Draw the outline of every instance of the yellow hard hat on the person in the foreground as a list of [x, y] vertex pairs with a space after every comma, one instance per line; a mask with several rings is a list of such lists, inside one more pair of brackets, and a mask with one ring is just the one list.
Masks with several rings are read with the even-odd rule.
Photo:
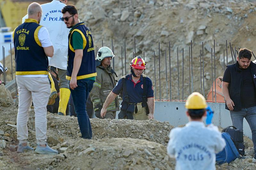
[[206, 107], [207, 104], [204, 96], [198, 92], [193, 92], [189, 95], [185, 104], [185, 108], [187, 109], [205, 109]]

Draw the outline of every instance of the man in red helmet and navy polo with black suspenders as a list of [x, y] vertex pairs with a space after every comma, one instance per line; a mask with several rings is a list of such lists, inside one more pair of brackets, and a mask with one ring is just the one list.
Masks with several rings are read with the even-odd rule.
[[107, 107], [123, 91], [118, 119], [147, 120], [154, 118], [154, 90], [152, 81], [142, 72], [146, 68], [145, 61], [137, 56], [132, 59], [131, 74], [121, 77], [114, 89], [109, 93], [101, 109], [101, 117], [106, 116]]

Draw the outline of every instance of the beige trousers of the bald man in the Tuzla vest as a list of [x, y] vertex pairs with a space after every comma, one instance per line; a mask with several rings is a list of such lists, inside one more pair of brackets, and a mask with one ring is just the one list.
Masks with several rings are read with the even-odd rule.
[[17, 115], [17, 139], [26, 143], [28, 139], [28, 117], [30, 106], [34, 104], [36, 140], [38, 145], [46, 144], [46, 106], [50, 96], [48, 77], [16, 77], [19, 89], [19, 109]]

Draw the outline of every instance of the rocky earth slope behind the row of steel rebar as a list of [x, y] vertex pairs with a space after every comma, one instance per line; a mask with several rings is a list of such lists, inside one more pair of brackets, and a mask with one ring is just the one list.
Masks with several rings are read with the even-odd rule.
[[[158, 75], [158, 42], [160, 42], [160, 73], [161, 81], [165, 82], [165, 49], [169, 63], [169, 41], [171, 46], [172, 98], [178, 99], [178, 68], [177, 47], [179, 48], [180, 81], [182, 77], [182, 48], [184, 48], [184, 89], [189, 89], [189, 48], [193, 41], [193, 76], [194, 90], [200, 91], [200, 51], [204, 42], [204, 87], [206, 95], [211, 88], [211, 47], [214, 52], [215, 39], [216, 78], [223, 75], [223, 50], [226, 50], [228, 40], [228, 63], [232, 63], [229, 42], [233, 48], [247, 47], [254, 50], [256, 5], [255, 1], [240, 0], [80, 0], [76, 4], [79, 18], [85, 22], [93, 35], [94, 46], [112, 47], [115, 51], [115, 71], [122, 76], [121, 46], [126, 39], [126, 74], [130, 72], [129, 63], [132, 60], [134, 38], [136, 37], [136, 55], [143, 57], [145, 52], [145, 74], [154, 82], [154, 53], [156, 54], [156, 74]], [[235, 49], [234, 49], [235, 50]], [[226, 52], [225, 52], [226, 56]], [[214, 63], [214, 55], [212, 57]], [[169, 65], [167, 63], [167, 73]], [[226, 57], [225, 57], [226, 63]], [[214, 66], [214, 64], [213, 64]], [[123, 58], [123, 72], [125, 68]], [[214, 69], [213, 69], [214, 71]], [[124, 73], [125, 74], [125, 73]], [[167, 76], [169, 84], [169, 74]], [[214, 79], [214, 77], [213, 77]], [[156, 82], [159, 82], [156, 76]], [[153, 83], [154, 84], [154, 83]], [[165, 84], [161, 83], [162, 99], [167, 97]], [[157, 97], [159, 83], [156, 83]], [[180, 91], [181, 91], [180, 87]], [[184, 90], [184, 96], [189, 90]], [[180, 93], [180, 98], [181, 98]], [[159, 99], [159, 98], [158, 98]]]

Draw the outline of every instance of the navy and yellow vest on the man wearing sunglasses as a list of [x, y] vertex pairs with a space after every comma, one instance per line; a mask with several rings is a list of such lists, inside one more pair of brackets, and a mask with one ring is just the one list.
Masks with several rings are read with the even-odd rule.
[[75, 28], [73, 28], [69, 32], [68, 35], [68, 68], [66, 79], [71, 79], [73, 71], [75, 50], [72, 47], [72, 34], [75, 31], [80, 33], [83, 38], [83, 58], [76, 79], [81, 80], [97, 76], [92, 34], [90, 30], [82, 22], [77, 24]]

